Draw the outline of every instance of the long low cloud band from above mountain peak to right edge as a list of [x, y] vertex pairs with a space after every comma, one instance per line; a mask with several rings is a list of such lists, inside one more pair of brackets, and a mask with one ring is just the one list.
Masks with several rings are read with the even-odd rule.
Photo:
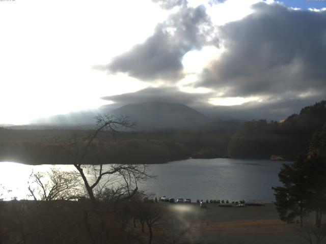
[[127, 93], [102, 99], [114, 104], [103, 106], [104, 110], [112, 110], [126, 104], [137, 103], [180, 103], [216, 119], [285, 119], [292, 113], [299, 113], [301, 108], [314, 104], [324, 97], [297, 98], [295, 96], [270, 97], [261, 102], [248, 102], [236, 106], [213, 106], [208, 103], [213, 94], [191, 94], [180, 92], [174, 87], [145, 88], [135, 93]]

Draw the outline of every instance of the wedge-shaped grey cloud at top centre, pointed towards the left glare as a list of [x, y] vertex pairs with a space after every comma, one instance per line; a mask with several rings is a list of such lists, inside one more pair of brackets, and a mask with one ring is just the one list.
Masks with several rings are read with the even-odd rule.
[[[160, 1], [162, 2], [162, 1]], [[166, 4], [181, 4], [167, 1]], [[183, 77], [182, 57], [192, 49], [201, 49], [212, 39], [213, 26], [204, 6], [187, 7], [182, 2], [178, 12], [158, 24], [154, 34], [144, 43], [113, 58], [104, 67], [109, 73], [123, 72], [141, 80], [166, 79], [176, 81]]]

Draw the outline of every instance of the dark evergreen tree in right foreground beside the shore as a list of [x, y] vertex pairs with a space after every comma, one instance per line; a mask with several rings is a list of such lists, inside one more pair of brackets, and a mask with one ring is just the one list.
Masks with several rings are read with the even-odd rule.
[[276, 206], [280, 219], [292, 222], [307, 212], [315, 211], [316, 225], [321, 225], [326, 212], [326, 124], [316, 130], [309, 152], [292, 164], [284, 164], [279, 173], [283, 187], [275, 187]]

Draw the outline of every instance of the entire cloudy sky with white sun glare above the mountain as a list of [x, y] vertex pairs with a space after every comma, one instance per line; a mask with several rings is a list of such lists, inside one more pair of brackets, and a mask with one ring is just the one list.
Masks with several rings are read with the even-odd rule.
[[281, 119], [325, 99], [326, 1], [16, 0], [0, 21], [0, 124], [142, 102]]

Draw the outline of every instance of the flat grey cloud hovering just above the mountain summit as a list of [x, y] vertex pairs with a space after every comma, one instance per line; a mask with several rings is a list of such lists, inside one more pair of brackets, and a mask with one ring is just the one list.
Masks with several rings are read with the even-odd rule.
[[184, 93], [175, 87], [145, 88], [134, 93], [104, 97], [102, 99], [113, 101], [117, 106], [134, 103], [181, 103], [192, 107], [207, 106], [211, 94]]

